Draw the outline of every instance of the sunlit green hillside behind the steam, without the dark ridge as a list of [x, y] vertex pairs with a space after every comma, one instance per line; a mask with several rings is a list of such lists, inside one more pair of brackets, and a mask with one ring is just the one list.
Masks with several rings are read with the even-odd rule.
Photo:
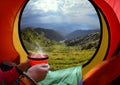
[[55, 41], [46, 38], [44, 32], [37, 33], [31, 27], [21, 30], [21, 38], [28, 51], [36, 51], [40, 49], [40, 46], [49, 47], [55, 43]]

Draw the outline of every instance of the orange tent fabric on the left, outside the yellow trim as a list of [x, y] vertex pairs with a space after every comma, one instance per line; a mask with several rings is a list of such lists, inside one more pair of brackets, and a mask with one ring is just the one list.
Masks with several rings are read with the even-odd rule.
[[25, 0], [0, 1], [0, 62], [13, 61], [18, 57], [13, 46], [13, 25], [16, 15]]

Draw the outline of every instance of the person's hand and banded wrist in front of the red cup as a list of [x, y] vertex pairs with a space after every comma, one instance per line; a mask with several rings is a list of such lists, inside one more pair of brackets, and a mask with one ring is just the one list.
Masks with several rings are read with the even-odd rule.
[[41, 81], [46, 77], [48, 71], [48, 64], [34, 65], [30, 67], [26, 73], [23, 73], [20, 85], [37, 85], [38, 81]]

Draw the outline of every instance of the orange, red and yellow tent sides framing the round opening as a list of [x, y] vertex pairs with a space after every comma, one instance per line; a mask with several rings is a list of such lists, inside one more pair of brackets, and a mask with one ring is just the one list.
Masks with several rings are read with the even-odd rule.
[[[27, 52], [23, 48], [19, 35], [19, 20], [22, 8], [27, 0], [0, 1], [0, 62], [3, 60], [20, 61], [27, 59]], [[120, 1], [92, 0], [97, 6], [101, 23], [101, 45], [93, 60], [83, 67], [83, 75], [96, 64], [109, 59], [120, 43]]]

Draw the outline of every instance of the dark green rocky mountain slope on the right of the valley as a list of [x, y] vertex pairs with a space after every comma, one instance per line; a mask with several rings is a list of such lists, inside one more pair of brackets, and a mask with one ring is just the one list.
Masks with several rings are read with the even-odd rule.
[[100, 32], [93, 32], [86, 36], [79, 37], [73, 40], [66, 40], [67, 46], [77, 46], [80, 49], [97, 48], [100, 41]]

